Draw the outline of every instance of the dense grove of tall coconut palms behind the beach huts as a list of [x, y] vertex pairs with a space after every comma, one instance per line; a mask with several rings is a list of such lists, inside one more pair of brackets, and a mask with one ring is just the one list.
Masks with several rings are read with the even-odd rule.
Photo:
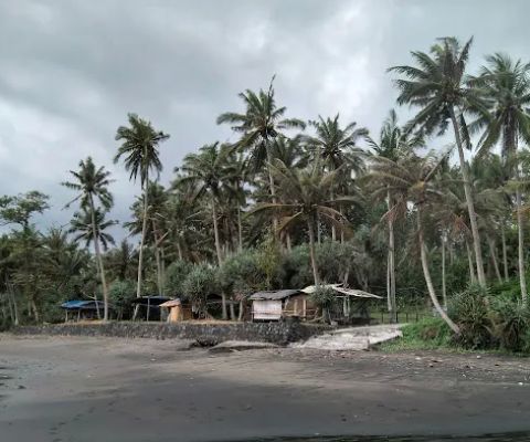
[[[68, 207], [78, 202], [68, 230], [74, 235], [50, 235], [61, 236], [73, 254], [82, 251], [78, 242], [94, 244], [94, 259], [84, 254], [80, 272], [91, 267], [99, 278], [104, 319], [107, 282], [128, 281], [136, 296], [165, 294], [183, 290], [187, 273], [202, 281], [204, 269], [218, 269], [223, 318], [237, 295], [295, 281], [340, 280], [386, 293], [394, 320], [407, 294], [425, 293], [455, 333], [447, 299], [463, 283], [486, 287], [517, 277], [526, 303], [530, 64], [496, 53], [474, 75], [467, 70], [471, 43], [438, 39], [427, 52], [412, 52], [412, 63], [390, 67], [398, 105], [409, 106], [413, 117], [400, 125], [392, 109], [378, 135], [339, 114], [308, 122], [289, 116], [277, 103], [274, 77], [265, 90], [246, 90], [241, 108], [216, 119], [231, 127], [235, 141], [212, 140], [187, 155], [167, 187], [159, 182], [159, 149], [169, 135], [129, 114], [128, 125], [117, 129], [114, 160], [140, 183], [132, 220], [124, 224], [140, 236], [139, 246], [124, 241], [108, 249], [112, 179], [91, 158], [64, 182], [76, 192]], [[434, 148], [447, 138], [449, 145]], [[2, 219], [20, 227], [2, 240], [1, 283], [6, 293], [25, 293], [28, 313], [36, 317], [39, 303], [17, 276], [33, 271], [15, 263], [40, 250], [30, 251], [25, 236], [39, 236], [29, 217], [46, 204], [34, 208], [26, 198], [24, 212], [23, 199], [0, 201]], [[303, 249], [311, 281], [297, 261]], [[236, 277], [243, 270], [247, 276]]]

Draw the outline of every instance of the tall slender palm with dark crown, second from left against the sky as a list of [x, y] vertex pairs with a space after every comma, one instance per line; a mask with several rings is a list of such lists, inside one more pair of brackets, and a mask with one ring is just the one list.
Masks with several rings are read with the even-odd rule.
[[149, 172], [153, 171], [157, 176], [162, 170], [158, 147], [160, 143], [169, 138], [168, 134], [156, 130], [151, 123], [139, 118], [136, 114], [128, 115], [129, 126], [119, 126], [116, 131], [116, 140], [123, 141], [118, 147], [118, 152], [114, 157], [114, 162], [118, 162], [125, 157], [125, 169], [130, 172], [129, 179], [136, 179], [140, 176], [140, 186], [144, 194], [144, 219], [141, 228], [140, 249], [138, 253], [138, 284], [136, 296], [141, 296], [141, 271], [144, 259], [144, 243], [147, 232], [147, 209], [149, 206], [147, 188], [149, 186]]

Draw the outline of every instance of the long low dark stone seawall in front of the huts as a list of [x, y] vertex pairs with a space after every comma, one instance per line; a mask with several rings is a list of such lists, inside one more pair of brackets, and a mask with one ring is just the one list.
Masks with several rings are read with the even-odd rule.
[[20, 326], [14, 335], [107, 336], [120, 338], [195, 339], [201, 345], [216, 345], [225, 340], [251, 340], [287, 345], [308, 339], [328, 327], [303, 323], [128, 323], [51, 324]]

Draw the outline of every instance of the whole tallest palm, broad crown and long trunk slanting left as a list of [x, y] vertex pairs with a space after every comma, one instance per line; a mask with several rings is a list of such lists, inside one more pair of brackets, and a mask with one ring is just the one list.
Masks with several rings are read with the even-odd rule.
[[480, 94], [474, 87], [469, 87], [464, 76], [471, 41], [473, 39], [460, 48], [455, 38], [439, 39], [430, 54], [412, 52], [415, 66], [394, 66], [389, 71], [404, 75], [404, 78], [395, 81], [400, 91], [398, 103], [420, 107], [420, 112], [409, 123], [409, 129], [418, 128], [430, 135], [435, 131], [443, 134], [449, 124], [453, 126], [469, 212], [478, 282], [485, 286], [480, 235], [464, 155], [464, 147], [470, 147], [464, 112], [485, 107]]

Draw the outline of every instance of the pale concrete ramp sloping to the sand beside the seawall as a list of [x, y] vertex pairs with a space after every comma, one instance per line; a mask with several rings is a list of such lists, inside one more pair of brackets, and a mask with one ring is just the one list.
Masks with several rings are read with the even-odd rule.
[[294, 348], [321, 350], [367, 350], [371, 346], [402, 336], [403, 324], [374, 325], [365, 327], [339, 328], [309, 338], [305, 343], [294, 343]]

